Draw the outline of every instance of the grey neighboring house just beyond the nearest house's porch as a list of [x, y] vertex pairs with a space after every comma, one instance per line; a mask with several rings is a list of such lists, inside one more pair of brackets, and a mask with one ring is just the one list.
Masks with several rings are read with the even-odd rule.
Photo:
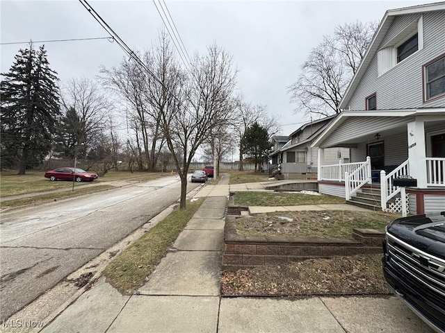
[[[273, 138], [274, 150], [269, 154], [272, 173], [281, 173], [282, 179], [316, 178], [317, 148], [312, 142], [323, 133], [335, 116], [305, 123], [289, 137]], [[286, 140], [284, 140], [286, 138]], [[282, 144], [286, 142], [286, 144]], [[330, 148], [325, 151], [330, 163], [349, 162], [349, 148]]]

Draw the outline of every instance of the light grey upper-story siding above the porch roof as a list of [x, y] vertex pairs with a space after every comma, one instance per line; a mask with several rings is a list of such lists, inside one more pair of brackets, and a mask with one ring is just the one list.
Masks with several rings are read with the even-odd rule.
[[[382, 46], [389, 42], [404, 27], [412, 26], [419, 15], [396, 17]], [[422, 65], [445, 52], [445, 10], [423, 14], [423, 49], [399, 62], [378, 77], [378, 53], [371, 60], [362, 80], [349, 101], [350, 110], [364, 110], [366, 96], [376, 93], [378, 110], [405, 108], [432, 108], [444, 106], [444, 99], [423, 103]], [[403, 35], [403, 33], [401, 33]], [[400, 36], [399, 36], [400, 37]], [[400, 42], [400, 41], [399, 41]], [[389, 44], [387, 44], [389, 43]]]

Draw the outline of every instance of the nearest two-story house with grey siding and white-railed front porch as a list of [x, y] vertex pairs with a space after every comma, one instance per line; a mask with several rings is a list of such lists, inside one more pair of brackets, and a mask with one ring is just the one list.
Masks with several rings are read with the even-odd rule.
[[[411, 176], [408, 211], [445, 210], [445, 2], [385, 13], [340, 109], [312, 145], [321, 193], [353, 201], [372, 188], [382, 210], [400, 212], [393, 181]], [[337, 146], [351, 163], [329, 165]]]

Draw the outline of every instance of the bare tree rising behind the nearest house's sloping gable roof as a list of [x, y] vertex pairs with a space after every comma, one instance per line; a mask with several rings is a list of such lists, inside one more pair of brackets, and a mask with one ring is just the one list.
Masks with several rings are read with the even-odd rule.
[[296, 112], [327, 117], [339, 104], [375, 33], [375, 22], [337, 26], [323, 37], [302, 65], [298, 80], [288, 88]]

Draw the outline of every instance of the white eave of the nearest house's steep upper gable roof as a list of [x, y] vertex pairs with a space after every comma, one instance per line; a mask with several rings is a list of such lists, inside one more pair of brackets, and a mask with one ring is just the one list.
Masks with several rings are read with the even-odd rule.
[[339, 104], [340, 109], [347, 108], [350, 98], [353, 96], [353, 93], [359, 85], [360, 80], [362, 80], [362, 77], [364, 76], [366, 69], [369, 67], [371, 60], [374, 58], [375, 53], [377, 53], [377, 51], [379, 50], [380, 44], [387, 34], [389, 27], [394, 21], [394, 18], [401, 15], [420, 14], [423, 12], [432, 12], [435, 10], [445, 10], [445, 2], [426, 3], [419, 6], [387, 10], [377, 28], [377, 31], [373, 36], [373, 39], [371, 40], [371, 43], [369, 44], [368, 50], [366, 51], [362, 62], [360, 62], [359, 68], [355, 72], [353, 79], [350, 81], [345, 94], [343, 94], [343, 99], [341, 99], [341, 102]]

